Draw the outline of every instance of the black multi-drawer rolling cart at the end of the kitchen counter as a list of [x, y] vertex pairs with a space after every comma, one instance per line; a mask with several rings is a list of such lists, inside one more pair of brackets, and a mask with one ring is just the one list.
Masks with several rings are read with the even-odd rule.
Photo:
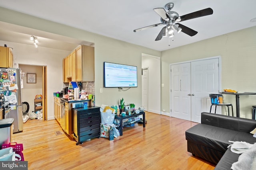
[[88, 106], [72, 109], [72, 137], [76, 145], [94, 137], [100, 138], [100, 107]]

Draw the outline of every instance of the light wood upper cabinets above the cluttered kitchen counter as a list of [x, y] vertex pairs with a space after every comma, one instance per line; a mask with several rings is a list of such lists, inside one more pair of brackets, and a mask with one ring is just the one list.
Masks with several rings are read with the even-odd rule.
[[[67, 59], [67, 64], [65, 59]], [[94, 47], [79, 45], [64, 59], [63, 80], [64, 82], [94, 81]], [[65, 71], [67, 76], [65, 78]], [[68, 76], [68, 75], [71, 76]]]

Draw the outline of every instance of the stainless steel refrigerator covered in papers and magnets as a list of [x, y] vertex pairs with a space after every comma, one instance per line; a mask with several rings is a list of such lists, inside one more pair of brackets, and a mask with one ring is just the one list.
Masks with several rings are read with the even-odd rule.
[[21, 102], [20, 68], [0, 68], [1, 86], [4, 91], [4, 101], [10, 102], [10, 117], [14, 118], [13, 133], [23, 131], [23, 115]]

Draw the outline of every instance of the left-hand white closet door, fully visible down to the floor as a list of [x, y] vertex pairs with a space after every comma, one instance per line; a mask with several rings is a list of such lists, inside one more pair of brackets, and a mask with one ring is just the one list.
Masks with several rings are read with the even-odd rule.
[[171, 116], [191, 120], [190, 63], [171, 66]]

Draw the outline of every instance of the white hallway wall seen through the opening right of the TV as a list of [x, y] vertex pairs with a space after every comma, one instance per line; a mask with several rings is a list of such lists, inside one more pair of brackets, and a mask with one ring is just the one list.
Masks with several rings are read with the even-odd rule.
[[148, 111], [160, 114], [160, 57], [142, 54], [142, 68], [146, 67], [148, 67], [149, 84]]

